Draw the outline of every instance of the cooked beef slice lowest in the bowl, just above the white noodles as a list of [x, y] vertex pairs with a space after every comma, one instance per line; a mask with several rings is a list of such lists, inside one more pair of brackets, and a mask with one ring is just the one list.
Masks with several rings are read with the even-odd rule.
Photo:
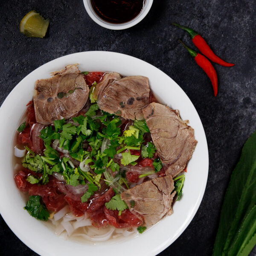
[[121, 199], [131, 212], [142, 215], [145, 224], [151, 226], [165, 215], [172, 214], [172, 200], [176, 193], [172, 193], [173, 189], [171, 175], [158, 177], [122, 192]]

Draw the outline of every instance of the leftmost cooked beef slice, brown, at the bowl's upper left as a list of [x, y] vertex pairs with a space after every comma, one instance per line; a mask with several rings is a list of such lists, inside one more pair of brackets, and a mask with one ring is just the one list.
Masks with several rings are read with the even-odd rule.
[[89, 87], [77, 64], [52, 75], [51, 78], [35, 82], [35, 117], [37, 122], [44, 125], [56, 119], [75, 116], [83, 108], [89, 94]]

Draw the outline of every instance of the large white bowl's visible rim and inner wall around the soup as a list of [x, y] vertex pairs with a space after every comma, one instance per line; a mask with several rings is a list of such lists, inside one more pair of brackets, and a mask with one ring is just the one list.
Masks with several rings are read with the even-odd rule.
[[[79, 243], [64, 241], [50, 230], [43, 221], [32, 218], [23, 207], [26, 204], [14, 181], [13, 140], [26, 104], [32, 99], [35, 81], [47, 78], [52, 71], [68, 64], [79, 63], [81, 71], [116, 71], [122, 75], [147, 76], [151, 89], [162, 103], [180, 110], [183, 119], [195, 129], [198, 145], [189, 161], [183, 196], [173, 206], [174, 213], [136, 237], [120, 241]], [[207, 183], [207, 141], [195, 107], [183, 90], [165, 73], [140, 59], [116, 52], [78, 52], [57, 58], [38, 67], [12, 90], [0, 108], [0, 213], [15, 235], [36, 253], [56, 255], [105, 255], [122, 256], [156, 255], [172, 244], [194, 217]], [[198, 223], [200, 225], [200, 223]]]

